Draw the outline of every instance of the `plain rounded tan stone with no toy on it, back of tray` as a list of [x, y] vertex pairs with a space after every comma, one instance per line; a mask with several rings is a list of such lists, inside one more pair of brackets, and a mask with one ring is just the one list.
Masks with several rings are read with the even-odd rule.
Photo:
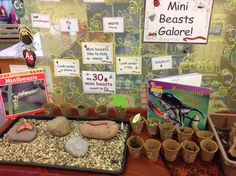
[[70, 123], [64, 116], [58, 116], [46, 123], [46, 129], [53, 136], [65, 136], [70, 133]]

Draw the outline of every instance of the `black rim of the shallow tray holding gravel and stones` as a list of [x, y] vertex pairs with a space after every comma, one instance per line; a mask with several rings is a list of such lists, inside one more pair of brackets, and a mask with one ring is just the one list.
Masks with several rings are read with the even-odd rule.
[[[9, 126], [7, 128], [5, 128], [0, 133], [0, 137], [3, 138], [4, 134], [7, 133], [8, 130], [12, 126], [14, 126], [19, 120], [22, 120], [22, 119], [25, 119], [25, 120], [35, 119], [35, 120], [40, 120], [40, 121], [42, 121], [42, 120], [46, 121], [46, 120], [52, 120], [53, 118], [55, 118], [55, 117], [52, 117], [52, 116], [31, 116], [31, 115], [24, 115], [24, 116], [17, 117], [16, 119], [14, 119], [9, 124]], [[79, 121], [79, 122], [81, 122], [81, 121], [91, 121], [91, 120], [112, 120], [112, 121], [115, 121], [117, 123], [121, 123], [120, 120], [113, 120], [113, 119], [109, 119], [109, 118], [95, 118], [95, 117], [94, 118], [93, 117], [83, 117], [83, 118], [81, 118], [81, 117], [73, 117], [73, 118], [68, 118], [68, 120]], [[120, 174], [120, 173], [122, 173], [125, 170], [126, 159], [127, 159], [127, 145], [126, 145], [126, 141], [127, 141], [127, 138], [129, 137], [129, 134], [130, 134], [130, 124], [129, 124], [129, 121], [123, 121], [123, 123], [126, 126], [127, 130], [124, 131], [125, 141], [122, 144], [122, 145], [124, 145], [123, 151], [119, 151], [123, 155], [122, 156], [122, 160], [121, 160], [121, 167], [120, 167], [119, 170], [87, 168], [87, 167], [71, 166], [71, 165], [57, 165], [57, 164], [50, 164], [50, 163], [48, 164], [48, 163], [37, 163], [37, 162], [12, 161], [12, 160], [4, 160], [2, 158], [0, 158], [1, 159], [0, 163], [1, 164], [24, 165], [24, 166], [40, 166], [40, 167], [47, 167], [47, 168], [77, 170], [77, 171], [86, 171], [86, 172], [98, 172], [98, 173], [106, 173], [106, 174]], [[37, 139], [37, 137], [35, 139]], [[92, 140], [95, 140], [95, 139], [92, 139]], [[10, 144], [10, 145], [12, 145], [12, 144]], [[42, 150], [42, 148], [39, 148], [39, 149]], [[1, 152], [0, 152], [0, 154], [1, 154]]]

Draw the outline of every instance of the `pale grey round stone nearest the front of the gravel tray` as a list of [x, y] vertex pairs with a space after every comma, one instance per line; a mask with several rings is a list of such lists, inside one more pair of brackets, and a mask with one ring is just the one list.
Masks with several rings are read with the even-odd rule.
[[88, 152], [89, 143], [79, 137], [71, 138], [67, 141], [65, 149], [74, 157], [82, 157]]

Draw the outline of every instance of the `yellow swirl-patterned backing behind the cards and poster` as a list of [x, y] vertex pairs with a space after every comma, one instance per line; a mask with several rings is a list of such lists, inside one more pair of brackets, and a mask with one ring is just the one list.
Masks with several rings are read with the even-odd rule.
[[[84, 3], [83, 0], [60, 0], [59, 2], [25, 0], [25, 5], [27, 11], [25, 23], [28, 26], [31, 25], [32, 13], [50, 15], [50, 29], [32, 29], [34, 32], [40, 32], [44, 51], [44, 57], [38, 59], [37, 67], [50, 66], [54, 88], [52, 97], [56, 103], [70, 101], [76, 104], [86, 101], [91, 105], [110, 104], [111, 94], [83, 93], [81, 72], [115, 72], [116, 57], [141, 57], [142, 74], [116, 75], [116, 93], [126, 95], [129, 106], [141, 107], [145, 104], [145, 101], [142, 102], [141, 94], [149, 79], [199, 72], [204, 75], [203, 86], [209, 86], [213, 90], [210, 111], [236, 107], [234, 76], [236, 70], [231, 65], [232, 59], [230, 60], [236, 43], [236, 21], [235, 18], [233, 21], [227, 20], [231, 12], [235, 11], [236, 4], [233, 0], [226, 2], [214, 0], [209, 40], [206, 45], [143, 43], [143, 0], [106, 0], [105, 3]], [[124, 31], [103, 33], [103, 17], [123, 17]], [[60, 32], [61, 18], [78, 19], [79, 31]], [[82, 42], [112, 42], [114, 64], [83, 64]], [[152, 70], [151, 58], [167, 55], [172, 56], [173, 68]], [[78, 60], [80, 76], [55, 76], [53, 59]]]

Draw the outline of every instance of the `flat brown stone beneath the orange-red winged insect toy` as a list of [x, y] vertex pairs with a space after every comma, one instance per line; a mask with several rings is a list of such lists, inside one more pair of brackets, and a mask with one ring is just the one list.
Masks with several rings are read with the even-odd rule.
[[20, 125], [14, 125], [5, 135], [6, 139], [13, 142], [30, 142], [33, 141], [37, 135], [37, 128], [33, 127], [32, 130], [23, 130], [17, 133]]

